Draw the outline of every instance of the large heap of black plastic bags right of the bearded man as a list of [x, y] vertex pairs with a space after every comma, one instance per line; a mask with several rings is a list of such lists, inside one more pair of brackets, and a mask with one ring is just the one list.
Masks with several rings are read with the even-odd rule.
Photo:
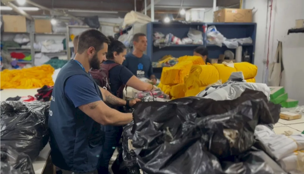
[[[124, 158], [124, 163], [139, 165], [147, 174], [286, 173], [254, 136], [257, 124], [278, 122], [280, 108], [250, 89], [234, 100], [138, 103], [133, 126], [124, 129], [133, 140], [137, 163], [134, 158]], [[130, 149], [123, 153], [130, 157]]]

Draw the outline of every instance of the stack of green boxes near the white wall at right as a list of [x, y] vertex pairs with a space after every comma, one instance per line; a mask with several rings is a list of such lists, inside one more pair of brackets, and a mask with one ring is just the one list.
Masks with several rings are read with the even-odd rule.
[[275, 104], [281, 104], [282, 107], [292, 108], [298, 106], [299, 101], [288, 99], [288, 93], [282, 86], [269, 86], [270, 101]]

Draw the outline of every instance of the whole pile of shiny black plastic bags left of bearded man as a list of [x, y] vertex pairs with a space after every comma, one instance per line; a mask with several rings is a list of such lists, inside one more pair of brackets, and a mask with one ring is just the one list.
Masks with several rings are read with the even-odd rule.
[[49, 109], [50, 102], [0, 102], [0, 173], [34, 174], [31, 160], [49, 139]]

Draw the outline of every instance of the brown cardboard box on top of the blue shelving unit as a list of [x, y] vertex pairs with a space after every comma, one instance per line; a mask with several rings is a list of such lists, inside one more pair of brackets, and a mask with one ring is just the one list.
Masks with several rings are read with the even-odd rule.
[[221, 9], [214, 12], [213, 22], [252, 22], [252, 9]]

